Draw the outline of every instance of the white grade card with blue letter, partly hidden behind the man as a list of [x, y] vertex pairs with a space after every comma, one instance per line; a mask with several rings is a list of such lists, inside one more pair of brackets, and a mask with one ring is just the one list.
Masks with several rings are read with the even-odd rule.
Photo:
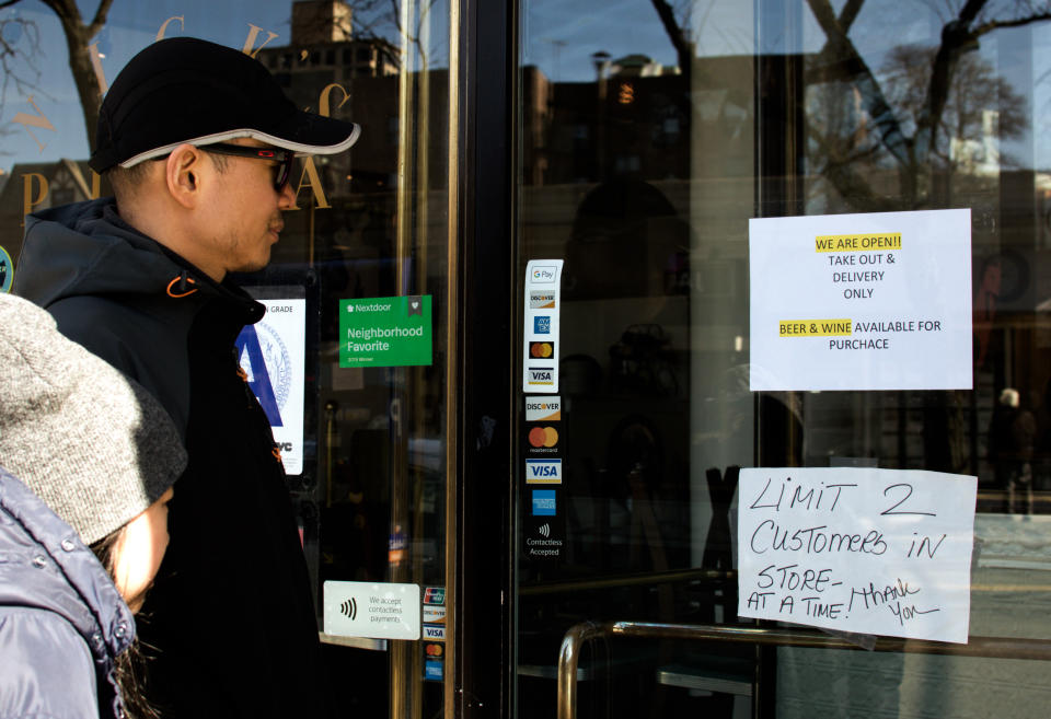
[[285, 472], [303, 472], [307, 300], [258, 300], [266, 315], [238, 336], [241, 369], [259, 401]]

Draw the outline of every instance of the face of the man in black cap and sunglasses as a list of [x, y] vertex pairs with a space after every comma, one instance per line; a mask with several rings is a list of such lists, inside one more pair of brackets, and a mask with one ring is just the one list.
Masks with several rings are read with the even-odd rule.
[[[267, 147], [252, 139], [234, 140], [245, 147]], [[207, 153], [208, 147], [201, 147]], [[293, 206], [296, 196], [291, 183], [278, 192], [274, 187], [277, 162], [212, 155], [206, 162], [218, 161], [226, 169], [215, 173], [205, 205], [206, 212], [198, 228], [201, 247], [210, 267], [201, 267], [209, 275], [216, 271], [246, 272], [263, 269], [270, 262], [270, 247], [278, 241], [285, 227], [281, 210]]]

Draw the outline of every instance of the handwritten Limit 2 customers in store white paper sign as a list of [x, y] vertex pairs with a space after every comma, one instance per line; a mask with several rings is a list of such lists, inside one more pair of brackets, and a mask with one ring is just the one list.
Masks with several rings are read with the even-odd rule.
[[741, 469], [738, 614], [967, 643], [978, 479]]

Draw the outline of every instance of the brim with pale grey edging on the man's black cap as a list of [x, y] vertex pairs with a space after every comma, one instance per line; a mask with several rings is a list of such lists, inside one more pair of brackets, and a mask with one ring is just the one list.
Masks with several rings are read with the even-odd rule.
[[203, 137], [188, 138], [180, 142], [173, 142], [164, 147], [140, 152], [134, 158], [128, 158], [122, 162], [120, 166], [131, 167], [140, 162], [164, 156], [181, 144], [205, 146], [245, 137], [273, 144], [274, 147], [284, 148], [285, 150], [291, 150], [297, 154], [335, 154], [348, 150], [358, 141], [358, 136], [361, 135], [361, 126], [357, 123], [337, 120], [303, 111], [298, 111], [284, 123], [268, 129], [269, 131], [264, 131], [257, 128], [243, 127], [222, 132], [213, 132]]

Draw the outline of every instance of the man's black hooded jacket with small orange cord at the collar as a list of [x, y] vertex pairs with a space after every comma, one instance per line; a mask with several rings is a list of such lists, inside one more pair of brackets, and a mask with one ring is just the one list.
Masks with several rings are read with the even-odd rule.
[[30, 216], [14, 291], [151, 391], [186, 440], [140, 613], [159, 649], [147, 695], [166, 719], [326, 716], [285, 471], [234, 350], [264, 306], [128, 225], [112, 198]]

